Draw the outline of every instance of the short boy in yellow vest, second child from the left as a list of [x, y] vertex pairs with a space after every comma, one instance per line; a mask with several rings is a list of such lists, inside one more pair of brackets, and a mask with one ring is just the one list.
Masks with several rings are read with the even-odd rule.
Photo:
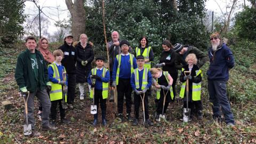
[[[90, 98], [94, 97], [94, 105], [97, 105], [97, 114], [94, 114], [94, 120], [92, 125], [97, 125], [98, 122], [98, 106], [100, 102], [101, 108], [101, 116], [102, 116], [102, 125], [106, 126], [106, 100], [108, 98], [108, 83], [110, 81], [109, 70], [104, 68], [104, 58], [99, 56], [95, 58], [95, 63], [97, 65], [96, 68], [93, 68], [90, 71], [89, 76], [87, 77], [87, 82], [94, 87], [94, 95], [93, 92], [90, 92]], [[91, 81], [91, 76], [95, 79], [95, 83], [93, 83], [93, 79]]]

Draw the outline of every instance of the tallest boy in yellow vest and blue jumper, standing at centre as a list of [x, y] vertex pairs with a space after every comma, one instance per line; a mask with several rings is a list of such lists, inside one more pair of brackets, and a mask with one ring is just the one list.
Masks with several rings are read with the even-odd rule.
[[118, 118], [123, 122], [124, 96], [126, 101], [126, 118], [129, 121], [133, 120], [130, 114], [132, 107], [131, 75], [133, 73], [133, 69], [137, 68], [137, 63], [134, 55], [129, 53], [130, 43], [126, 40], [122, 40], [119, 45], [121, 46], [122, 53], [116, 55], [113, 66], [112, 87], [117, 87]]

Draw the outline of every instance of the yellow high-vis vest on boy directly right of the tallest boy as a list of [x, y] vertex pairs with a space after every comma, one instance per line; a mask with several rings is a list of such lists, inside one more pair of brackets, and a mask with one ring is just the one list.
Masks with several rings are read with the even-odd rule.
[[[134, 73], [136, 89], [139, 89], [140, 84], [139, 84], [139, 70], [138, 70], [138, 68], [134, 69], [133, 73]], [[143, 76], [142, 76], [141, 90], [145, 89], [147, 84], [148, 84], [148, 68], [144, 68], [143, 69]]]

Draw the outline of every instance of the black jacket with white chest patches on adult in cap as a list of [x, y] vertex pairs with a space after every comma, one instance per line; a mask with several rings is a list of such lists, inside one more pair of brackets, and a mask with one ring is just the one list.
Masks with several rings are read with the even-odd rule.
[[67, 74], [76, 74], [77, 52], [75, 47], [64, 42], [59, 49], [64, 53], [61, 64], [66, 68]]

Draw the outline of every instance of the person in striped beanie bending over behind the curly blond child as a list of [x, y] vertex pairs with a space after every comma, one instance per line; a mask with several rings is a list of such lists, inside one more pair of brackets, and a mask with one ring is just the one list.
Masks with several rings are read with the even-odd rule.
[[181, 69], [182, 67], [187, 65], [185, 59], [189, 53], [196, 54], [196, 58], [198, 60], [197, 66], [199, 68], [201, 68], [204, 65], [204, 63], [208, 60], [207, 55], [204, 52], [197, 49], [195, 46], [182, 45], [177, 43], [174, 45], [173, 50], [176, 52], [175, 67], [177, 69]]

